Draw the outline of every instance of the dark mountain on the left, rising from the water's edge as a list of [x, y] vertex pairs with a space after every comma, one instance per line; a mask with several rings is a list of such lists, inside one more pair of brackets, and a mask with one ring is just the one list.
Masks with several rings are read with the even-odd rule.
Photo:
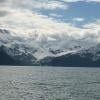
[[[33, 65], [36, 59], [31, 54], [21, 53], [18, 48], [0, 47], [1, 65]], [[37, 65], [35, 63], [35, 65]]]

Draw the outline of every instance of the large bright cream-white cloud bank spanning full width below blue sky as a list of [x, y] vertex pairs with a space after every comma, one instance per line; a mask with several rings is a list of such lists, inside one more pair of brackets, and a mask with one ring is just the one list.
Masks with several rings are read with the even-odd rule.
[[[47, 37], [53, 38], [57, 41], [67, 41], [68, 38], [77, 40], [94, 37], [95, 42], [97, 42], [96, 34], [99, 36], [100, 23], [98, 21], [98, 23], [90, 23], [84, 25], [83, 28], [78, 28], [70, 23], [60, 22], [38, 13], [32, 13], [29, 10], [21, 11], [11, 9], [11, 12], [12, 13], [5, 17], [0, 18], [0, 26], [8, 28], [16, 33], [16, 36], [32, 38], [37, 34], [38, 41], [47, 39]], [[42, 37], [45, 38], [41, 40]], [[92, 40], [93, 39], [91, 38], [91, 41]]]

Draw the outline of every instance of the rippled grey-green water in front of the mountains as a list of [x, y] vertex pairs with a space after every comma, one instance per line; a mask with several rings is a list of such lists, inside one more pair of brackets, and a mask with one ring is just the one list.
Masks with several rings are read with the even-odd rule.
[[0, 100], [100, 100], [100, 68], [1, 66]]

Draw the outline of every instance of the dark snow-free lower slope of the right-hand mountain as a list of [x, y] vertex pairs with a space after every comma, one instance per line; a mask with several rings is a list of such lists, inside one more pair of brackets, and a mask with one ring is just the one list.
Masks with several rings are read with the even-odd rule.
[[100, 67], [100, 59], [93, 61], [90, 58], [91, 54], [81, 57], [80, 55], [64, 55], [61, 57], [56, 57], [49, 62], [52, 66], [72, 66], [72, 67]]

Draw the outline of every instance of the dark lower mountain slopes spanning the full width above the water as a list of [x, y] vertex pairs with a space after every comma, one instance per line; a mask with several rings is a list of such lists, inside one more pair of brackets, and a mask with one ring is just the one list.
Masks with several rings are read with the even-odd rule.
[[[49, 56], [37, 60], [31, 54], [18, 53], [20, 55], [8, 55], [13, 52], [10, 48], [8, 51], [5, 47], [0, 47], [0, 64], [3, 65], [48, 65], [48, 66], [72, 66], [72, 67], [99, 67], [100, 66], [100, 45], [91, 47], [86, 50], [70, 52], [59, 56]], [[58, 51], [57, 51], [58, 52]], [[2, 62], [2, 63], [1, 63]]]

